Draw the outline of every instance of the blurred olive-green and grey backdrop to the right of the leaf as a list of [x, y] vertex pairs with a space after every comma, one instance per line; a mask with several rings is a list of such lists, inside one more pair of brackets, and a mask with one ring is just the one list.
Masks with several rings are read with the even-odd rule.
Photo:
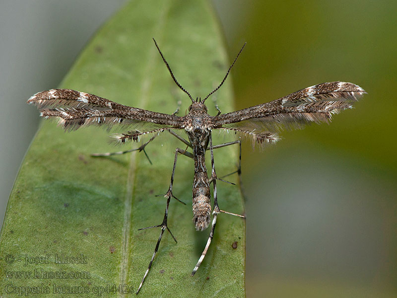
[[247, 297], [397, 297], [397, 2], [222, 3], [229, 56], [247, 41], [237, 108], [324, 81], [368, 92], [331, 125], [243, 147]]

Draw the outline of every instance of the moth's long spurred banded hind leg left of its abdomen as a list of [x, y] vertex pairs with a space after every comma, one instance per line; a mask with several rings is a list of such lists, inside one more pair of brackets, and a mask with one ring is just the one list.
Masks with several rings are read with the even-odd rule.
[[[184, 202], [180, 201], [178, 198], [176, 198], [172, 194], [172, 185], [174, 184], [174, 175], [175, 175], [175, 168], [176, 168], [177, 160], [178, 160], [178, 153], [193, 158], [193, 154], [192, 153], [187, 152], [186, 150], [182, 150], [180, 148], [175, 149], [174, 167], [172, 169], [170, 187], [168, 188], [168, 191], [164, 194], [164, 197], [167, 198], [167, 206], [165, 208], [163, 222], [161, 224], [158, 224], [158, 225], [143, 227], [143, 228], [139, 229], [139, 230], [142, 230], [142, 229], [148, 229], [148, 228], [152, 228], [152, 227], [160, 227], [161, 226], [160, 236], [158, 237], [158, 240], [157, 240], [157, 243], [156, 243], [156, 247], [154, 248], [154, 252], [153, 252], [152, 258], [151, 258], [151, 260], [149, 262], [149, 266], [147, 267], [145, 274], [143, 275], [142, 281], [140, 282], [140, 285], [138, 287], [138, 290], [136, 291], [136, 294], [138, 294], [140, 288], [143, 285], [143, 282], [145, 281], [145, 278], [146, 278], [147, 274], [149, 273], [150, 268], [152, 267], [153, 260], [154, 260], [154, 257], [156, 256], [157, 251], [158, 251], [158, 247], [160, 245], [160, 241], [161, 241], [161, 238], [163, 237], [164, 231], [167, 229], [170, 232], [172, 238], [175, 240], [175, 242], [177, 242], [177, 240], [175, 239], [174, 235], [171, 233], [170, 229], [168, 228], [167, 220], [168, 220], [168, 207], [170, 205], [171, 197], [176, 199], [177, 201], [185, 204]], [[160, 195], [160, 196], [162, 196], [162, 195]]]

